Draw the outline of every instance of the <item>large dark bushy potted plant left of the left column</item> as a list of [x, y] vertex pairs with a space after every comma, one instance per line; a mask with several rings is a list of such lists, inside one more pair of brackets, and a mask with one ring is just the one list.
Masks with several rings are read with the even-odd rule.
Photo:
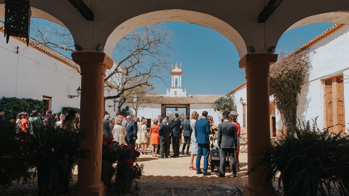
[[9, 150], [1, 156], [2, 175], [23, 184], [37, 176], [40, 195], [67, 193], [71, 169], [78, 160], [78, 134], [74, 129], [49, 126], [34, 128], [32, 133], [15, 132], [7, 138]]

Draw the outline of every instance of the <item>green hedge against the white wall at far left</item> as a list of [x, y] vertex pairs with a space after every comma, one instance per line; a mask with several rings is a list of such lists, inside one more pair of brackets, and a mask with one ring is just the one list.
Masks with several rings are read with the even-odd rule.
[[44, 112], [45, 105], [42, 100], [32, 98], [5, 98], [0, 100], [0, 108], [5, 110], [6, 116], [18, 114], [22, 111], [30, 113], [32, 110]]

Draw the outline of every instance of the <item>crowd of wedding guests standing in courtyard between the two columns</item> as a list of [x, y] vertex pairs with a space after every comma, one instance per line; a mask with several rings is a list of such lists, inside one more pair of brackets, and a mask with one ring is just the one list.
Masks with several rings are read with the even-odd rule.
[[[114, 141], [120, 144], [129, 144], [142, 154], [147, 153], [148, 145], [152, 145], [152, 156], [159, 159], [176, 158], [179, 153], [189, 155], [191, 145], [189, 170], [195, 170], [196, 174], [209, 176], [207, 166], [211, 160], [210, 151], [213, 148], [219, 149], [220, 167], [219, 177], [225, 177], [225, 162], [229, 157], [230, 172], [233, 178], [237, 177], [240, 170], [239, 163], [239, 137], [240, 124], [237, 122], [238, 114], [234, 111], [222, 114], [223, 122], [214, 125], [212, 116], [207, 111], [202, 115], [194, 111], [191, 116], [185, 116], [181, 122], [178, 113], [174, 113], [174, 120], [170, 121], [169, 116], [162, 115], [153, 119], [151, 126], [144, 117], [126, 118], [120, 113], [111, 119], [107, 114], [103, 120], [103, 134], [113, 137]], [[147, 126], [148, 125], [148, 126]], [[182, 138], [183, 137], [183, 138]], [[183, 139], [183, 145], [180, 151], [180, 144]], [[170, 146], [172, 144], [173, 155], [170, 156]], [[158, 156], [160, 155], [160, 156]], [[201, 157], [204, 157], [203, 169], [200, 168]], [[196, 156], [195, 165], [194, 158]]]

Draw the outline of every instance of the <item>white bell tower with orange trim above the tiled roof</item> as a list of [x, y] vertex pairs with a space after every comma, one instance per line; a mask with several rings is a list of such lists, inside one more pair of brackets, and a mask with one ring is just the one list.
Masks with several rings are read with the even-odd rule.
[[177, 63], [172, 65], [171, 70], [171, 87], [170, 91], [167, 89], [166, 96], [171, 97], [186, 97], [186, 89], [182, 87], [182, 64], [179, 64], [179, 68]]

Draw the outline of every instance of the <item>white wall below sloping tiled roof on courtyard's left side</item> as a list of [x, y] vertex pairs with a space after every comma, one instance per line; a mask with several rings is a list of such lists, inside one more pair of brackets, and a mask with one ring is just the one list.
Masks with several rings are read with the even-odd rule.
[[0, 58], [0, 98], [52, 97], [53, 112], [60, 112], [64, 106], [80, 107], [80, 97], [68, 98], [77, 95], [76, 89], [81, 86], [80, 74], [73, 68], [12, 37], [8, 44], [0, 38]]

